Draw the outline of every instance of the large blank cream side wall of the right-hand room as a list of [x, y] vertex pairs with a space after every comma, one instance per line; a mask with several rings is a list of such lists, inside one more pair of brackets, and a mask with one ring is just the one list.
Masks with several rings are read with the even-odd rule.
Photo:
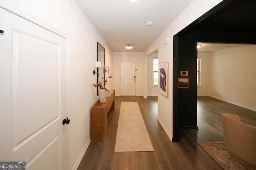
[[210, 96], [256, 111], [256, 46], [210, 53]]

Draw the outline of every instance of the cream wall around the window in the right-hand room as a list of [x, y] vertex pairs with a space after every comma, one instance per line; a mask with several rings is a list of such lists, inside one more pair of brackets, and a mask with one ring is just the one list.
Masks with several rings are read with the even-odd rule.
[[201, 58], [201, 84], [197, 87], [197, 96], [209, 96], [210, 52], [198, 52], [197, 57]]

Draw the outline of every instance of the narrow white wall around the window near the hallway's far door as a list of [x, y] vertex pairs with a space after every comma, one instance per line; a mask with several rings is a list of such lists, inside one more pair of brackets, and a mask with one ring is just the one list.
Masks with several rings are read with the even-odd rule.
[[147, 57], [147, 96], [158, 96], [158, 86], [153, 86], [153, 58], [158, 58], [158, 52]]

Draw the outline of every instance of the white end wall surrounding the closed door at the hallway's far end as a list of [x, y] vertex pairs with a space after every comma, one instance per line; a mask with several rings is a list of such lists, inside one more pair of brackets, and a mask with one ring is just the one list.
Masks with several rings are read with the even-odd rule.
[[113, 52], [113, 89], [116, 96], [121, 95], [121, 63], [136, 63], [136, 96], [144, 94], [144, 56], [143, 52]]

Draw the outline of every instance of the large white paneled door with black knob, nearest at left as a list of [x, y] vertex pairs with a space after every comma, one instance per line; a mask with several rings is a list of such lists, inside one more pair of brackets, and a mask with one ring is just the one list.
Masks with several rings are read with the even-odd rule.
[[0, 161], [67, 167], [66, 39], [0, 8]]

